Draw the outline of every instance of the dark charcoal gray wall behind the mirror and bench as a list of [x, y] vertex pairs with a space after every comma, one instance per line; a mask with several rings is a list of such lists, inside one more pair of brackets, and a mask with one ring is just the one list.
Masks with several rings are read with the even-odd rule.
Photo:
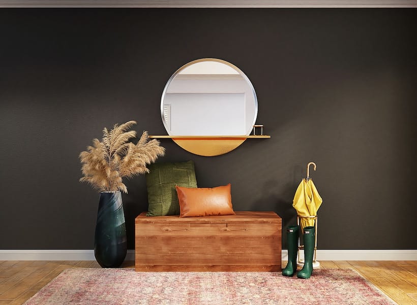
[[[193, 159], [199, 186], [284, 226], [314, 161], [319, 249], [417, 249], [416, 54], [415, 9], [1, 9], [0, 249], [92, 249], [79, 152], [116, 122], [166, 134], [165, 83], [203, 57], [246, 73], [272, 138], [218, 157], [162, 140], [158, 161]], [[127, 186], [133, 249], [145, 178]]]

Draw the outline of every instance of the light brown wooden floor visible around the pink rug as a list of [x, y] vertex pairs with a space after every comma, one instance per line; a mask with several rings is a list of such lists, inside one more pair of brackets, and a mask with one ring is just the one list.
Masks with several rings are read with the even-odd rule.
[[[286, 262], [283, 262], [283, 267]], [[320, 261], [321, 268], [351, 268], [398, 304], [417, 305], [417, 261]], [[95, 261], [0, 261], [0, 305], [24, 303], [67, 268], [100, 268]], [[133, 261], [122, 267], [134, 267]]]

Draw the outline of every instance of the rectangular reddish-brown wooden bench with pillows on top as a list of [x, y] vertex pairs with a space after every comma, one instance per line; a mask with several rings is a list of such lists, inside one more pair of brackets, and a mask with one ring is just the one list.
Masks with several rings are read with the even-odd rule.
[[281, 218], [274, 212], [135, 220], [136, 271], [281, 270]]

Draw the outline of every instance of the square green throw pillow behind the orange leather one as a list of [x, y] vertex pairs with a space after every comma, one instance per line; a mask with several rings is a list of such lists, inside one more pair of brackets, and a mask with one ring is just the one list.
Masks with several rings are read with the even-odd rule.
[[175, 185], [197, 187], [194, 161], [153, 163], [146, 174], [148, 212], [146, 216], [180, 215]]

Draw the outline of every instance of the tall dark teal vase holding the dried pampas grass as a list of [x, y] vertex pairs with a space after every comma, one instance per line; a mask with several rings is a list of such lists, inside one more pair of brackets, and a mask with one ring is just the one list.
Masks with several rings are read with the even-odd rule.
[[103, 268], [116, 268], [127, 253], [126, 223], [121, 192], [100, 193], [94, 256]]

